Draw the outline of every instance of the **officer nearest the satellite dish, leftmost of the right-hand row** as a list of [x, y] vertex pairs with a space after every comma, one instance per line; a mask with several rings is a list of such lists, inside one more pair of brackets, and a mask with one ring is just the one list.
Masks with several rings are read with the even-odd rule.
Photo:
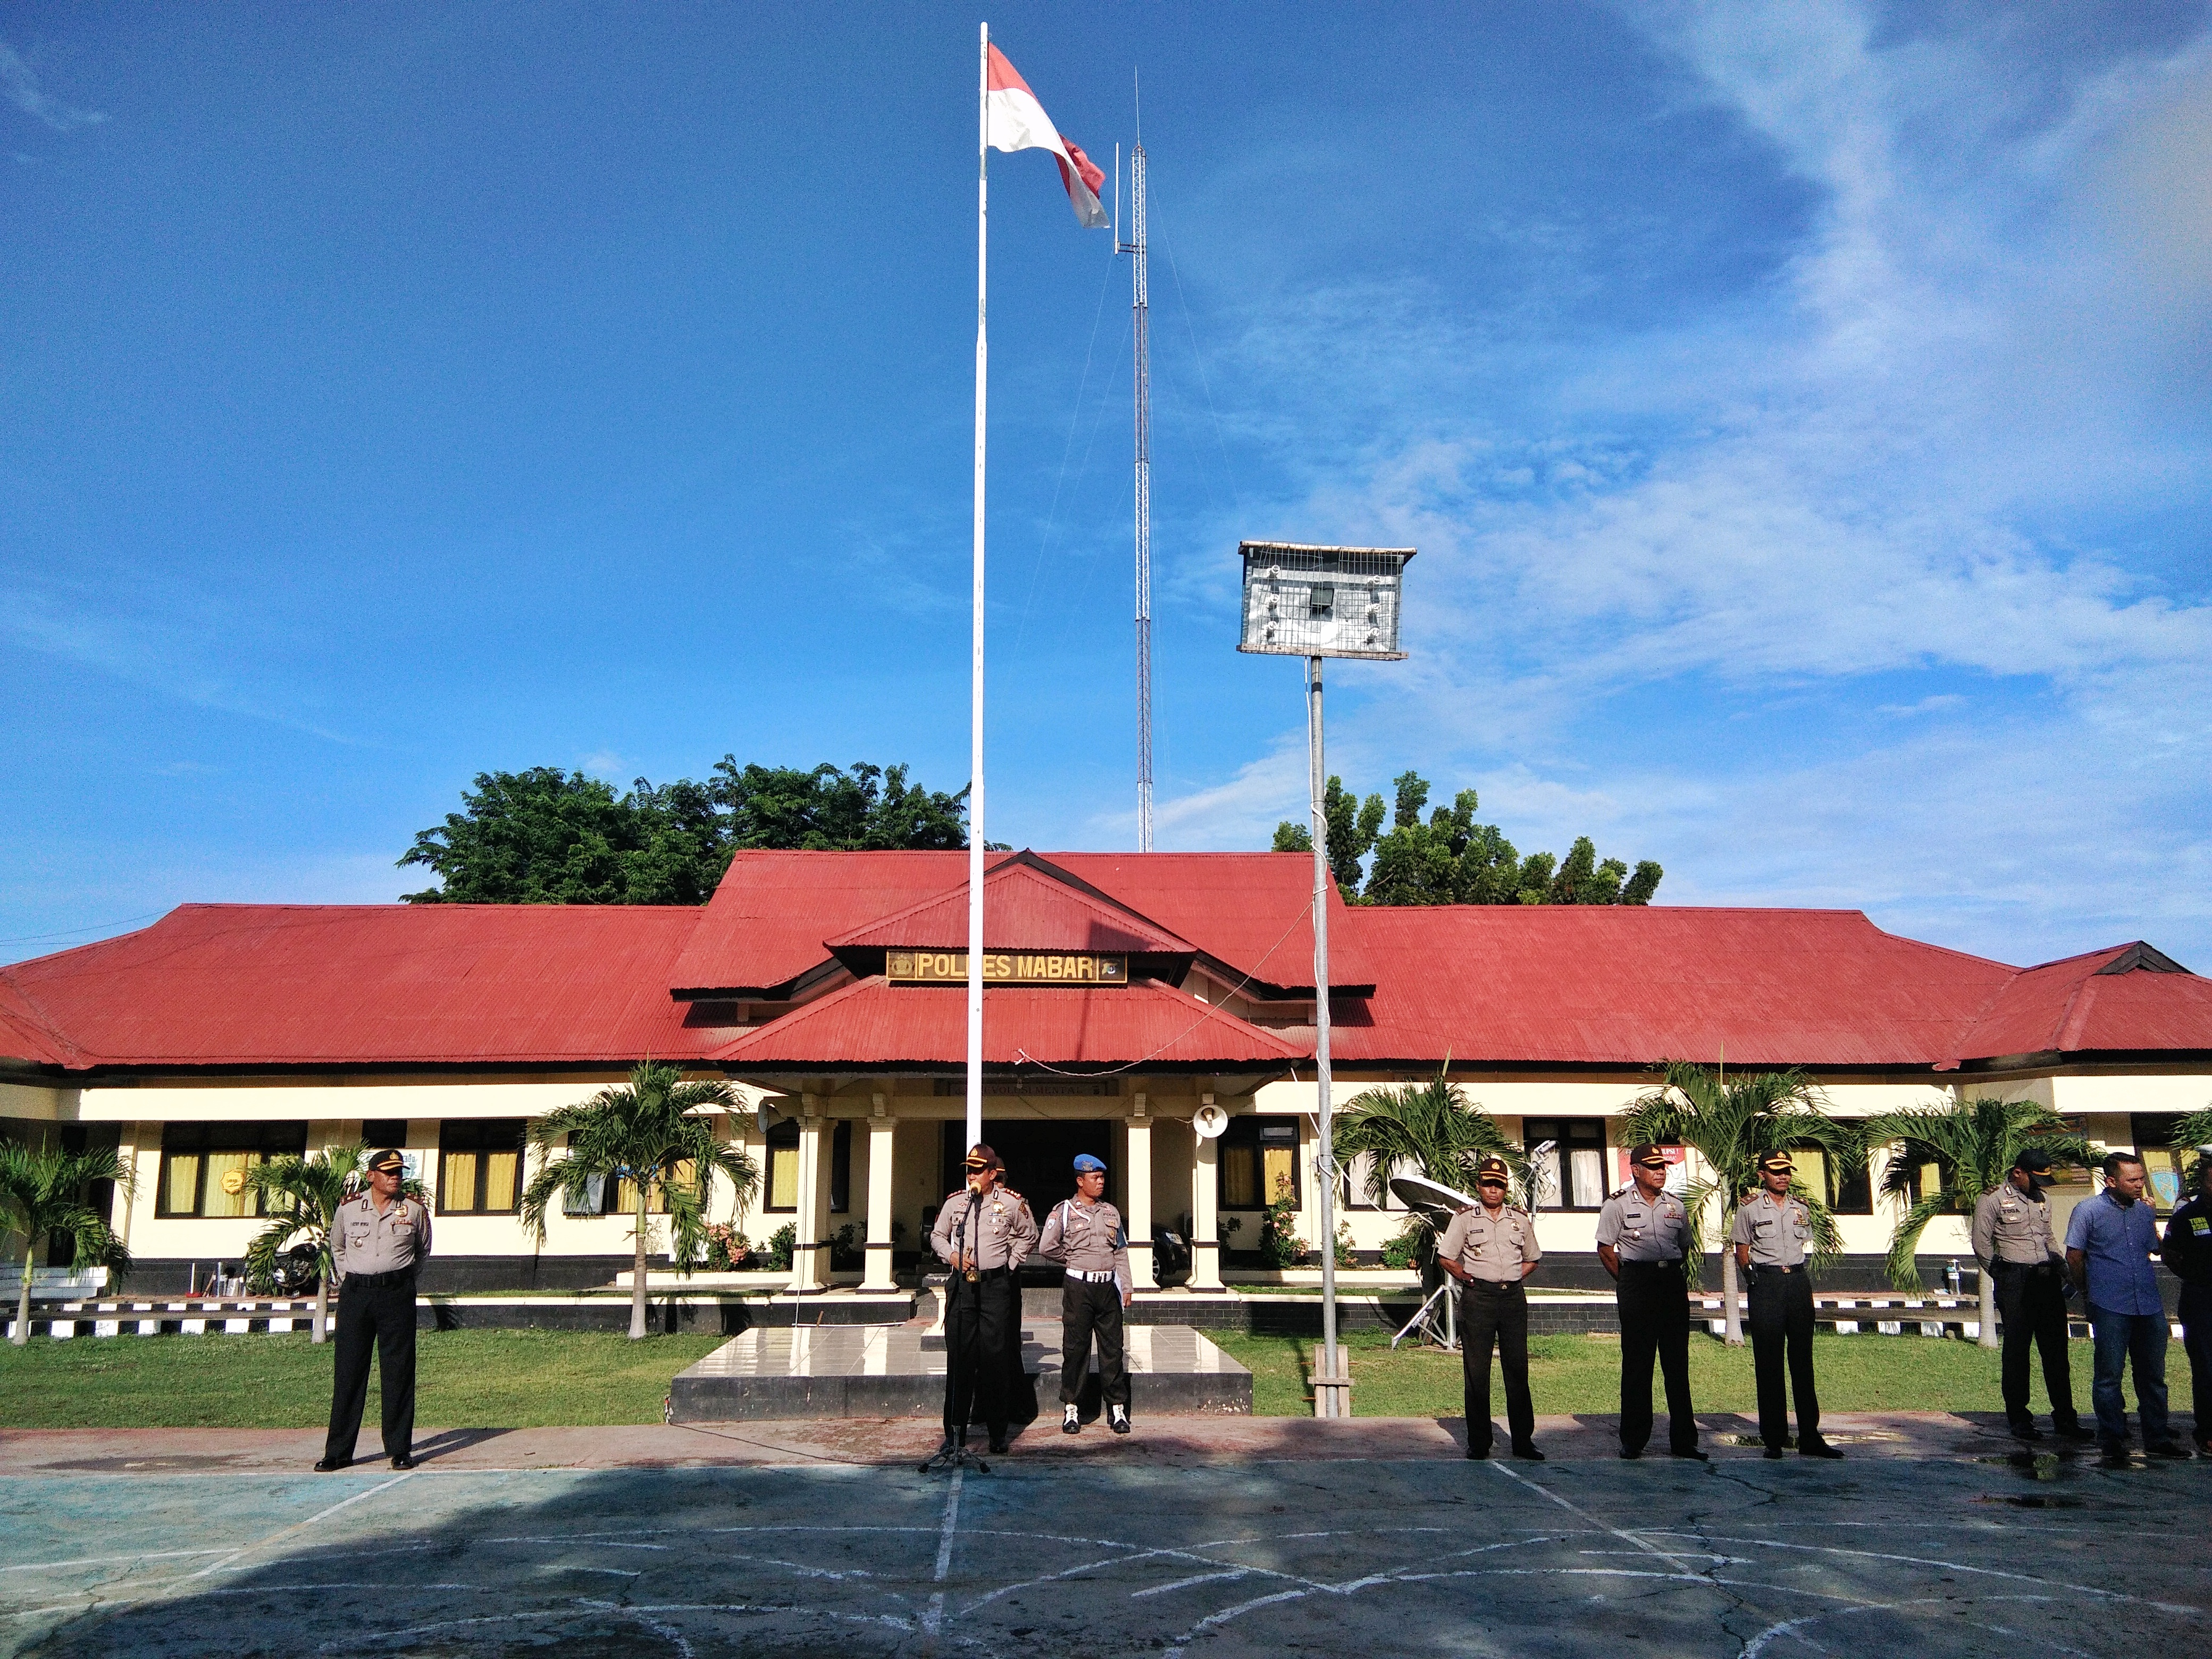
[[1535, 1221], [1506, 1203], [1506, 1161], [1475, 1168], [1475, 1203], [1451, 1217], [1436, 1243], [1436, 1265], [1460, 1281], [1460, 1369], [1467, 1380], [1467, 1455], [1491, 1455], [1491, 1347], [1506, 1374], [1506, 1427], [1513, 1455], [1544, 1462], [1535, 1449], [1535, 1402], [1528, 1398], [1528, 1292], [1522, 1279], [1544, 1252]]

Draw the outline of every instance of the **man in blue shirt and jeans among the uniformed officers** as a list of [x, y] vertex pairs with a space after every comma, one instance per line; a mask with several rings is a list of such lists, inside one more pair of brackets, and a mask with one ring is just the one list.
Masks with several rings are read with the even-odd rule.
[[2143, 1203], [2143, 1159], [2112, 1152], [2104, 1192], [2075, 1206], [2066, 1223], [2066, 1272], [2088, 1290], [2088, 1323], [2097, 1334], [2097, 1444], [2106, 1458], [2128, 1455], [2128, 1407], [2119, 1391], [2124, 1365], [2135, 1367], [2135, 1405], [2143, 1416], [2143, 1451], [2188, 1458], [2166, 1425], [2166, 1303], [2150, 1259], [2159, 1223]]

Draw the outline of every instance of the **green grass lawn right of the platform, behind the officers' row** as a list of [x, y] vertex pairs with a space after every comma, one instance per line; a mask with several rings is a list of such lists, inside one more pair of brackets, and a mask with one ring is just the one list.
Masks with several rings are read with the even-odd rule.
[[[1241, 1336], [1208, 1332], [1252, 1371], [1259, 1416], [1305, 1416], [1312, 1407], [1318, 1336]], [[1343, 1338], [1352, 1352], [1352, 1411], [1363, 1418], [1460, 1416], [1460, 1356], [1405, 1343], [1396, 1354], [1385, 1332]], [[1973, 1343], [1931, 1336], [1814, 1336], [1814, 1367], [1825, 1411], [2002, 1411], [1997, 1356]], [[2075, 1407], [2088, 1407], [2090, 1345], [2073, 1343]], [[2190, 1363], [2181, 1343], [2166, 1349], [2166, 1389], [2188, 1416]], [[1621, 1345], [1613, 1336], [1528, 1338], [1528, 1391], [1544, 1416], [1621, 1409]], [[1657, 1405], [1666, 1409], [1659, 1378]], [[1756, 1411], [1752, 1349], [1730, 1349], [1717, 1336], [1690, 1336], [1690, 1394], [1699, 1411]], [[2048, 1409], [2042, 1371], [2035, 1409]], [[1491, 1378], [1491, 1402], [1504, 1411], [1504, 1385]], [[2130, 1389], [2132, 1409], [2132, 1389]]]

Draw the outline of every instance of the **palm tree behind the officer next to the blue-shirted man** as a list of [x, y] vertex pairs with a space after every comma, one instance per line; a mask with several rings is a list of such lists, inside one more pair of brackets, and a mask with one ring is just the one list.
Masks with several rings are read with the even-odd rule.
[[[1982, 1194], [2002, 1186], [2013, 1159], [2031, 1141], [2053, 1164], [2095, 1161], [2090, 1144], [2066, 1128], [2057, 1113], [2028, 1099], [1973, 1099], [1882, 1113], [1865, 1121], [1871, 1144], [1900, 1141], [1882, 1172], [1882, 1194], [1905, 1210], [1889, 1234], [1889, 1283], [1920, 1290], [1920, 1234], [1940, 1214], [1973, 1214]], [[1940, 1170], [1933, 1192], [1916, 1192], [1920, 1172]], [[1982, 1347], [1997, 1345], [1997, 1287], [1986, 1272], [1982, 1285]]]

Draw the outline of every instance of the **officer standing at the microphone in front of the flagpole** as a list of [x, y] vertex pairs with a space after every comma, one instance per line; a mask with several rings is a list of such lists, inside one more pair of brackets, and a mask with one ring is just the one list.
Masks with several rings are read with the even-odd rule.
[[945, 1447], [967, 1444], [982, 1411], [991, 1451], [1006, 1449], [1006, 1383], [1022, 1340], [1015, 1267], [1037, 1248], [1037, 1223], [1020, 1192], [998, 1183], [998, 1152], [978, 1141], [964, 1159], [967, 1186], [945, 1199], [929, 1248], [951, 1270], [945, 1281]]

